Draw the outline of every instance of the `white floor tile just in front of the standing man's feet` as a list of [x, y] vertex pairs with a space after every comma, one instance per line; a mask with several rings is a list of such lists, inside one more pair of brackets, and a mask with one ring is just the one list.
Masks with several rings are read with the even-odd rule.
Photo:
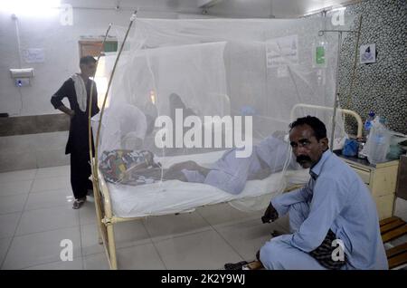
[[25, 211], [15, 235], [79, 226], [79, 213], [71, 206]]

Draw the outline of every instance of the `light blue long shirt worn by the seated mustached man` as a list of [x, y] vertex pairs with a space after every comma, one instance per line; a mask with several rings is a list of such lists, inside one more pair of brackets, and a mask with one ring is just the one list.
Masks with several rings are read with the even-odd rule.
[[310, 252], [321, 245], [329, 228], [345, 245], [348, 269], [388, 269], [377, 210], [369, 189], [355, 171], [330, 151], [310, 169], [305, 187], [274, 197], [279, 216], [305, 202], [309, 214], [290, 245]]

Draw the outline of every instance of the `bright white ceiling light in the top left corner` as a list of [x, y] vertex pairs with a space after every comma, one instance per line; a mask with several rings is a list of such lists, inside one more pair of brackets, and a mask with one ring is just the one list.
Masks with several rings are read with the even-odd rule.
[[4, 0], [0, 10], [17, 16], [42, 17], [59, 13], [61, 0]]

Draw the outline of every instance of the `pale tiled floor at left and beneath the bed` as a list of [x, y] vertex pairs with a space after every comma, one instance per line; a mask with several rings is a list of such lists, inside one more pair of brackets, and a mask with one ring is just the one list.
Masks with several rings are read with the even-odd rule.
[[[92, 198], [73, 210], [69, 177], [69, 166], [0, 173], [1, 269], [109, 269]], [[261, 215], [220, 204], [119, 223], [118, 266], [222, 269], [251, 261], [271, 231], [288, 231], [287, 219], [264, 225]], [[71, 240], [72, 261], [61, 260], [63, 239]]]

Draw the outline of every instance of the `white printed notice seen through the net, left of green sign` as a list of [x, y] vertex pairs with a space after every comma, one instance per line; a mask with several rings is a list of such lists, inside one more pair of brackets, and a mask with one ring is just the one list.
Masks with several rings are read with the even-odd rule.
[[298, 63], [298, 35], [279, 37], [266, 42], [267, 67]]

